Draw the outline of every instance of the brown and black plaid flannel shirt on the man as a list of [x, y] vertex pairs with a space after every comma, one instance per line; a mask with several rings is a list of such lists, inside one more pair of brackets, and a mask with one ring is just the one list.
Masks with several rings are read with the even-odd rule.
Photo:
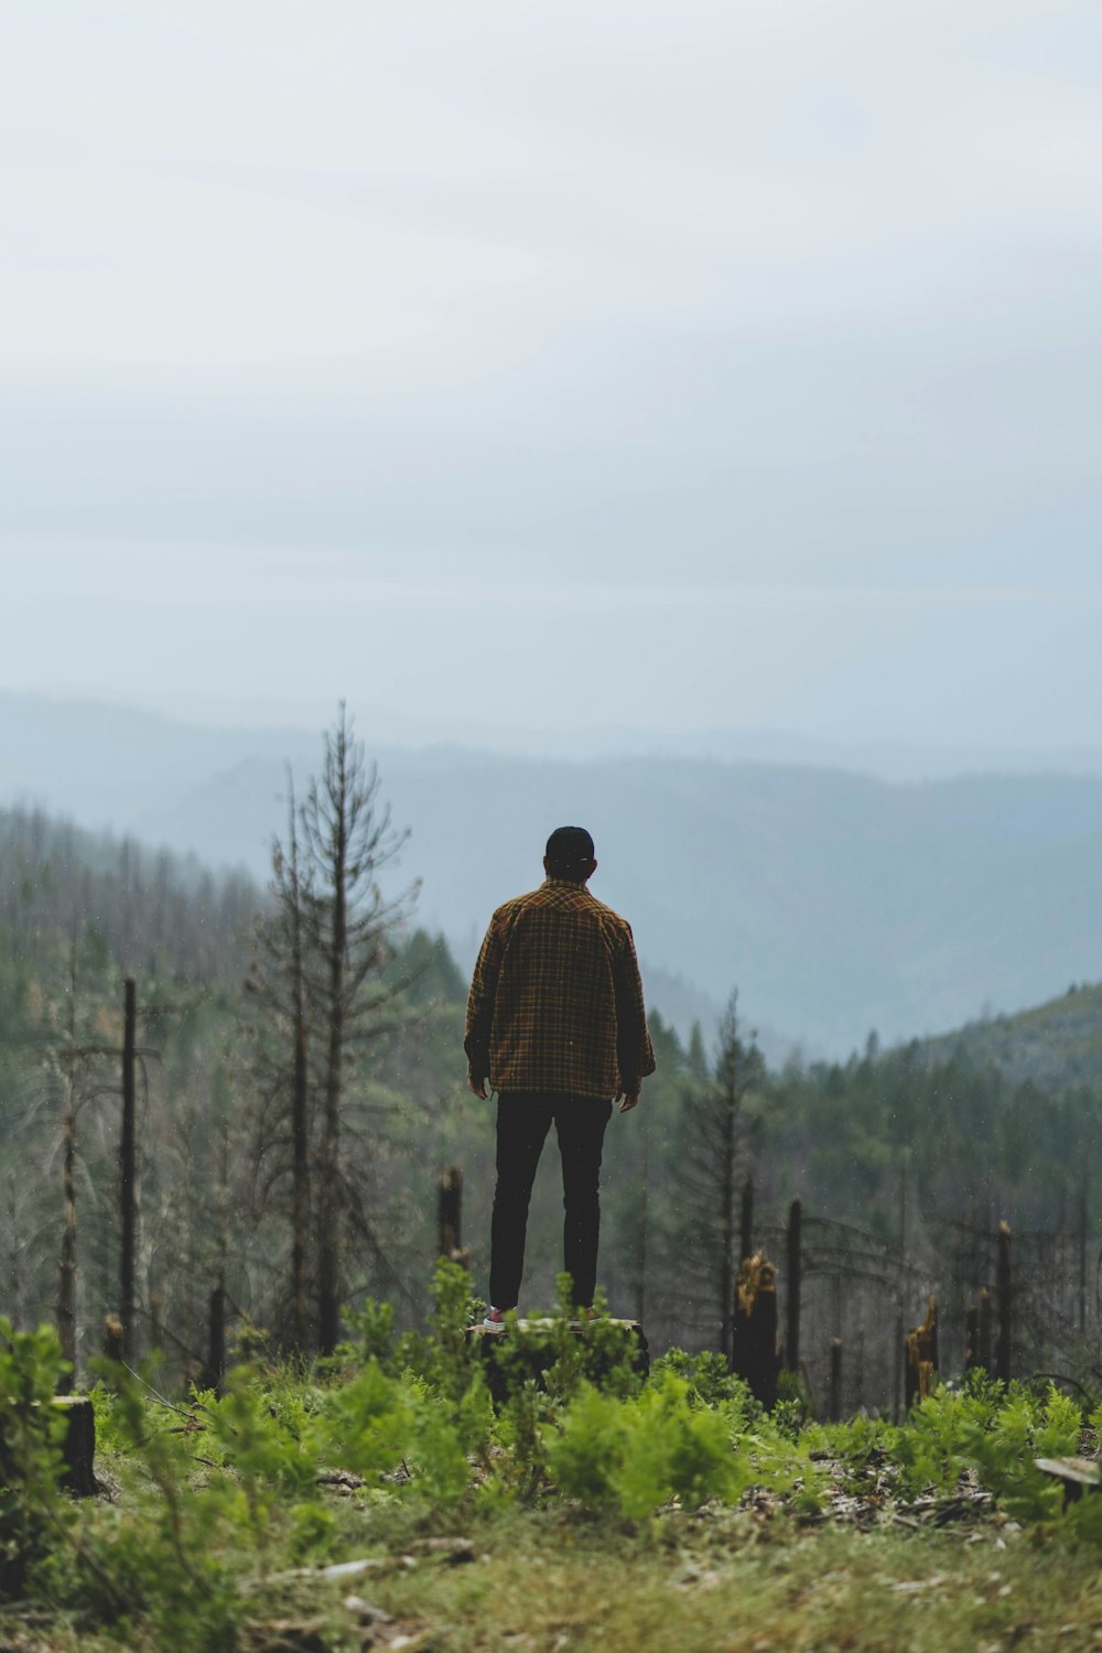
[[631, 926], [549, 878], [494, 912], [471, 980], [471, 1079], [496, 1091], [636, 1096], [654, 1073]]

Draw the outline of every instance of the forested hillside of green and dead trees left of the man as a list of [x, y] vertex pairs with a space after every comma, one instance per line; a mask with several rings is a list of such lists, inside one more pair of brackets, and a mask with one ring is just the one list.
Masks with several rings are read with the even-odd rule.
[[[78, 1360], [119, 1311], [107, 1337], [160, 1347], [190, 1377], [211, 1351], [218, 1359], [215, 1311], [230, 1332], [256, 1326], [304, 1349], [332, 1346], [340, 1301], [368, 1288], [403, 1303], [408, 1321], [423, 1311], [431, 1198], [410, 1195], [431, 1189], [441, 1154], [454, 1157], [438, 1076], [459, 1033], [441, 987], [456, 997], [461, 982], [446, 950], [411, 932], [410, 903], [382, 894], [390, 830], [367, 780], [342, 717], [319, 785], [291, 817], [291, 845], [304, 833], [301, 1028], [281, 997], [287, 843], [259, 891], [36, 812], [0, 825], [5, 1308], [17, 1324], [56, 1319]], [[284, 1175], [296, 1048], [306, 1231], [287, 1220]], [[453, 1073], [443, 1091], [454, 1088]], [[324, 1304], [324, 1326], [291, 1312], [296, 1246], [301, 1293]]]

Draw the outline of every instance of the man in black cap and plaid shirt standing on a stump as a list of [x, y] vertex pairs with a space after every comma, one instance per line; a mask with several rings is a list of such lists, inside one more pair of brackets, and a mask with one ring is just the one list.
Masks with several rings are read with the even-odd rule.
[[585, 888], [596, 871], [588, 831], [558, 826], [544, 871], [539, 889], [494, 912], [468, 998], [468, 1084], [481, 1098], [497, 1091], [487, 1326], [520, 1298], [529, 1200], [552, 1121], [563, 1263], [578, 1308], [593, 1303], [605, 1127], [613, 1099], [626, 1114], [654, 1073], [631, 926]]

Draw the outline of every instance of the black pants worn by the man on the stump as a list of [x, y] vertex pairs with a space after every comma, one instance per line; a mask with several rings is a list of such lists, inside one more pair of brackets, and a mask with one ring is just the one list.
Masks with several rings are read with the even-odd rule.
[[598, 1103], [591, 1096], [499, 1094], [489, 1263], [489, 1299], [496, 1309], [515, 1309], [520, 1299], [529, 1200], [552, 1119], [562, 1155], [563, 1266], [573, 1279], [573, 1301], [582, 1308], [593, 1303], [601, 1225], [601, 1146], [611, 1114], [611, 1103]]

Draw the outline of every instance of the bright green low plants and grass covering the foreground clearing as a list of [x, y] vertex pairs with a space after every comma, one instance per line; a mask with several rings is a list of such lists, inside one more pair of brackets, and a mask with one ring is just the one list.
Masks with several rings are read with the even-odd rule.
[[372, 1303], [314, 1367], [246, 1346], [221, 1393], [104, 1364], [84, 1501], [58, 1342], [2, 1326], [5, 1646], [1092, 1645], [1102, 1499], [1064, 1508], [1034, 1458], [1102, 1405], [975, 1374], [823, 1427], [717, 1355], [644, 1379], [601, 1312], [479, 1339], [461, 1268], [433, 1294], [428, 1336]]

